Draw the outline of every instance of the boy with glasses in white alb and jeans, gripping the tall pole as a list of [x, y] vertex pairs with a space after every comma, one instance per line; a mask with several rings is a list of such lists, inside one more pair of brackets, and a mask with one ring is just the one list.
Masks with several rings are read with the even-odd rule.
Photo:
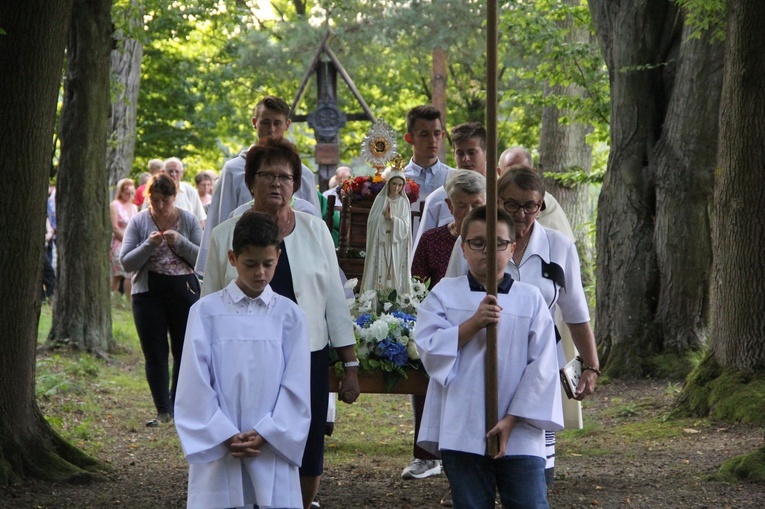
[[[513, 220], [497, 219], [497, 260], [486, 260], [486, 207], [462, 225], [470, 272], [445, 278], [420, 305], [415, 341], [430, 383], [417, 443], [437, 452], [455, 507], [547, 508], [544, 430], [561, 429], [560, 383], [553, 320], [535, 287], [504, 273], [512, 257]], [[493, 273], [493, 274], [492, 274]], [[497, 297], [486, 294], [496, 275]], [[485, 327], [497, 324], [499, 453], [486, 456]]]

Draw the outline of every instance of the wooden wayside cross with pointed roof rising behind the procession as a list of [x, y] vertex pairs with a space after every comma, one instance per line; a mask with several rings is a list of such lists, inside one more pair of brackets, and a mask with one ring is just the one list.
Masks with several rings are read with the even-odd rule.
[[[340, 163], [340, 148], [338, 133], [345, 126], [348, 120], [369, 120], [375, 121], [372, 111], [367, 106], [364, 98], [361, 97], [356, 85], [348, 75], [348, 72], [337, 59], [337, 56], [329, 47], [331, 30], [327, 30], [324, 38], [319, 44], [319, 49], [308, 67], [303, 78], [298, 93], [292, 101], [290, 119], [293, 122], [308, 122], [316, 134], [316, 164], [318, 165], [319, 189], [327, 189], [327, 182], [334, 175], [337, 165]], [[308, 81], [311, 76], [316, 74], [316, 85], [318, 91], [318, 101], [316, 109], [308, 115], [296, 115], [295, 108], [305, 93]], [[363, 110], [360, 113], [349, 113], [341, 111], [337, 107], [337, 75], [343, 78], [350, 89], [356, 101]]]

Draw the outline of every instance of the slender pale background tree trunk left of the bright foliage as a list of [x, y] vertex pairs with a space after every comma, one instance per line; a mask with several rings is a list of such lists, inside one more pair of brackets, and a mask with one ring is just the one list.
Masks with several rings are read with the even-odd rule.
[[[131, 2], [123, 22], [125, 29], [116, 35], [117, 48], [111, 54], [111, 72], [117, 85], [109, 117], [109, 143], [106, 152], [106, 168], [109, 188], [127, 177], [133, 165], [135, 152], [135, 124], [138, 107], [138, 86], [141, 82], [141, 59], [143, 44], [131, 36], [143, 27], [143, 9], [136, 0]], [[136, 186], [137, 187], [137, 186]]]

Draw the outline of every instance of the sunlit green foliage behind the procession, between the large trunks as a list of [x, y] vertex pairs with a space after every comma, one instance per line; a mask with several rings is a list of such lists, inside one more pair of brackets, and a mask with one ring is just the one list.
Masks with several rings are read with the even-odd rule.
[[[342, 62], [372, 112], [403, 139], [406, 112], [432, 101], [432, 54], [447, 51], [447, 127], [484, 121], [486, 42], [484, 2], [373, 2], [371, 0], [151, 0], [145, 10], [134, 173], [153, 157], [181, 157], [186, 178], [223, 161], [253, 141], [251, 109], [266, 94], [292, 102], [319, 43], [331, 29], [329, 46]], [[119, 0], [120, 9], [134, 6]], [[296, 6], [303, 6], [296, 8]], [[271, 12], [269, 12], [271, 11]], [[586, 6], [550, 0], [505, 2], [500, 11], [500, 148], [536, 147], [542, 107], [571, 108], [595, 126], [591, 142], [607, 140], [608, 80], [593, 44], [566, 44], [557, 19], [590, 25]], [[434, 29], [437, 28], [437, 29]], [[547, 82], [576, 84], [586, 97], [545, 96]], [[315, 78], [296, 112], [316, 106]], [[346, 112], [361, 108], [338, 77], [338, 103]], [[358, 158], [369, 124], [349, 121], [340, 133], [340, 158]], [[314, 134], [295, 123], [288, 137], [304, 160], [313, 157]], [[447, 162], [453, 163], [451, 155]], [[309, 164], [310, 166], [310, 164]]]

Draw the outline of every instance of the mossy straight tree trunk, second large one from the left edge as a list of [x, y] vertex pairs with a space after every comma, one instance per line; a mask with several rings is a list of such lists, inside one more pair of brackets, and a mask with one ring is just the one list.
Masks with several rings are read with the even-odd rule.
[[58, 288], [49, 342], [108, 352], [111, 0], [75, 0], [69, 33], [57, 187]]

